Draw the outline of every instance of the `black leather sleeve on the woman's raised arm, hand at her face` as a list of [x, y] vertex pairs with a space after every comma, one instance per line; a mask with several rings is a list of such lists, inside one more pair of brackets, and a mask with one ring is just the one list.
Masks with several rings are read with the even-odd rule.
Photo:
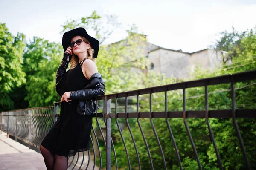
[[69, 54], [68, 53], [64, 53], [63, 54], [63, 58], [62, 58], [62, 61], [61, 61], [61, 64], [59, 65], [58, 69], [57, 69], [57, 72], [56, 72], [56, 79], [55, 79], [55, 82], [56, 82], [56, 86], [55, 86], [55, 89], [56, 89], [56, 92], [62, 96], [62, 81], [63, 81], [63, 78], [64, 78], [64, 75], [66, 73], [66, 69], [68, 67], [68, 63], [70, 62], [70, 58], [71, 58], [71, 55], [69, 57]]

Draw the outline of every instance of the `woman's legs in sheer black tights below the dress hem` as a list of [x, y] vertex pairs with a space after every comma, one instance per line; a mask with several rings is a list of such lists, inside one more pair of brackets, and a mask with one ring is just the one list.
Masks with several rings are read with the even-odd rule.
[[40, 145], [41, 153], [47, 170], [67, 170], [67, 157], [53, 155], [49, 150]]

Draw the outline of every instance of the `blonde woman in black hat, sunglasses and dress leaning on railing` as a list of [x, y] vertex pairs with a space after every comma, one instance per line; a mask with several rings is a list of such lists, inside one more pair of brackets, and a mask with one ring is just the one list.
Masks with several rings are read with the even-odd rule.
[[[103, 90], [84, 89], [93, 82], [92, 75], [99, 74], [95, 64], [98, 40], [90, 37], [84, 28], [76, 28], [64, 33], [62, 46], [64, 57], [56, 74], [61, 113], [40, 145], [47, 170], [67, 170], [68, 156], [89, 150], [92, 115], [79, 115], [76, 110], [79, 100], [103, 95], [105, 86], [104, 83]], [[69, 61], [71, 66], [66, 72]]]

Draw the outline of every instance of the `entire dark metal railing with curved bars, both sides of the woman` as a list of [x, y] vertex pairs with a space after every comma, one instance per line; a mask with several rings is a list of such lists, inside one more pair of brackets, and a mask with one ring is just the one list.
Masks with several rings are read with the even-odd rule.
[[[163, 144], [161, 144], [159, 139], [159, 134], [157, 134], [157, 128], [154, 126], [153, 119], [155, 118], [164, 118], [166, 122], [166, 132], [169, 133], [170, 140], [172, 140], [172, 144], [176, 153], [177, 157], [177, 167], [179, 167], [180, 170], [183, 169], [181, 159], [180, 159], [180, 153], [179, 148], [177, 147], [177, 144], [175, 142], [175, 136], [172, 132], [172, 128], [169, 124], [169, 119], [172, 118], [182, 118], [183, 124], [186, 128], [187, 136], [189, 137], [189, 141], [192, 146], [192, 150], [195, 156], [195, 159], [197, 161], [198, 169], [202, 170], [201, 161], [198, 156], [197, 149], [195, 147], [194, 139], [191, 135], [189, 125], [187, 123], [187, 118], [205, 118], [207, 129], [209, 131], [210, 141], [213, 144], [214, 151], [216, 154], [216, 158], [218, 161], [218, 167], [220, 170], [223, 170], [223, 164], [221, 161], [220, 153], [218, 151], [218, 146], [215, 142], [214, 133], [212, 132], [209, 118], [231, 118], [233, 127], [236, 132], [236, 137], [238, 138], [239, 145], [242, 151], [243, 159], [244, 159], [244, 165], [247, 169], [250, 169], [250, 164], [248, 160], [248, 156], [244, 147], [243, 140], [241, 138], [241, 134], [239, 131], [239, 127], [236, 121], [236, 118], [256, 118], [256, 109], [236, 109], [236, 101], [235, 101], [235, 83], [236, 82], [242, 82], [242, 81], [251, 81], [256, 79], [256, 70], [251, 72], [242, 72], [238, 74], [233, 75], [224, 75], [220, 77], [214, 77], [214, 78], [206, 78], [196, 81], [188, 81], [188, 82], [182, 82], [177, 84], [169, 84], [164, 86], [156, 86], [146, 89], [139, 89], [129, 92], [121, 92], [116, 94], [110, 94], [110, 95], [102, 95], [97, 97], [97, 104], [101, 102], [103, 105], [102, 112], [96, 112], [95, 120], [96, 120], [96, 126], [94, 124], [93, 131], [90, 137], [91, 146], [93, 154], [90, 154], [90, 150], [87, 151], [87, 156], [85, 156], [83, 153], [78, 153], [75, 157], [69, 158], [69, 169], [95, 169], [96, 168], [96, 159], [99, 159], [99, 163], [97, 168], [101, 169], [103, 164], [103, 155], [102, 151], [105, 151], [105, 164], [106, 164], [106, 170], [111, 170], [111, 167], [115, 166], [114, 169], [118, 169], [118, 156], [115, 150], [115, 139], [113, 135], [113, 127], [117, 127], [119, 135], [120, 135], [120, 141], [122, 140], [122, 144], [124, 147], [123, 156], [127, 159], [127, 164], [129, 170], [131, 170], [131, 156], [129, 155], [129, 150], [127, 147], [127, 144], [125, 141], [127, 138], [124, 138], [123, 135], [123, 127], [122, 124], [120, 124], [120, 120], [125, 119], [126, 128], [128, 128], [128, 133], [130, 134], [132, 144], [134, 146], [134, 150], [136, 153], [136, 159], [137, 159], [137, 169], [143, 169], [141, 167], [140, 163], [140, 152], [137, 147], [137, 141], [134, 138], [134, 135], [132, 133], [133, 125], [129, 124], [129, 119], [132, 118], [136, 119], [137, 126], [140, 130], [140, 135], [143, 138], [143, 142], [145, 144], [145, 148], [147, 151], [148, 160], [150, 162], [150, 167], [153, 170], [154, 169], [154, 161], [152, 158], [152, 152], [151, 148], [148, 145], [148, 141], [145, 134], [145, 129], [143, 130], [143, 126], [141, 125], [140, 120], [142, 119], [148, 119], [150, 121], [151, 130], [153, 130], [155, 141], [157, 143], [160, 156], [162, 158], [162, 165], [163, 169], [167, 169], [167, 163], [166, 163], [166, 155], [164, 155], [163, 152]], [[212, 85], [218, 85], [218, 84], [230, 84], [231, 86], [231, 100], [232, 100], [232, 107], [231, 109], [224, 109], [224, 110], [209, 110], [209, 92], [208, 87]], [[193, 88], [193, 87], [202, 87], [204, 88], [204, 101], [205, 101], [205, 109], [204, 110], [198, 110], [198, 111], [192, 111], [186, 109], [186, 89]], [[183, 110], [182, 111], [168, 111], [168, 97], [167, 92], [173, 91], [173, 90], [182, 90], [183, 95]], [[163, 98], [164, 100], [164, 111], [156, 111], [154, 112], [152, 110], [152, 94], [154, 93], [164, 93]], [[149, 101], [149, 110], [148, 112], [140, 112], [140, 96], [143, 95], [149, 95], [148, 101]], [[133, 98], [136, 101], [136, 104], [134, 105], [134, 111], [128, 112], [128, 98]], [[125, 98], [124, 100], [124, 112], [118, 112], [118, 99]], [[144, 96], [145, 99], [145, 96]], [[143, 100], [144, 100], [143, 99]], [[20, 110], [14, 110], [14, 111], [6, 111], [2, 112], [1, 114], [1, 130], [5, 131], [6, 133], [12, 135], [15, 137], [15, 139], [19, 139], [21, 141], [26, 142], [30, 146], [39, 147], [41, 144], [41, 141], [43, 140], [44, 136], [47, 134], [47, 132], [50, 130], [50, 128], [53, 125], [53, 119], [55, 118], [55, 121], [58, 118], [59, 114], [59, 108], [60, 108], [60, 102], [57, 102], [54, 104], [54, 107], [40, 107], [40, 108], [32, 108], [32, 109], [20, 109]], [[112, 121], [111, 124], [111, 119]], [[113, 122], [115, 122], [113, 124]], [[162, 127], [163, 128], [163, 127]], [[105, 133], [104, 133], [105, 132]], [[99, 141], [103, 141], [102, 143]], [[102, 148], [105, 148], [102, 150]], [[131, 147], [129, 147], [131, 148]], [[82, 154], [82, 156], [81, 156]], [[80, 155], [80, 156], [79, 156]], [[112, 156], [114, 156], [114, 162], [115, 165], [111, 164], [111, 159], [113, 159]], [[90, 160], [90, 157], [93, 156], [93, 160]], [[86, 160], [85, 160], [86, 159]], [[87, 162], [87, 163], [84, 163]], [[158, 162], [159, 163], [159, 162]], [[90, 165], [90, 166], [89, 166]]]

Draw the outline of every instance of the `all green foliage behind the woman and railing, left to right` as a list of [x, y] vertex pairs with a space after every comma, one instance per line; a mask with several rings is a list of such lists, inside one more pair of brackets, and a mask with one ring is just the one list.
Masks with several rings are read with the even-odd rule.
[[[107, 27], [105, 23], [108, 23]], [[147, 72], [147, 74], [140, 72], [149, 64], [142, 53], [143, 49], [146, 48], [147, 41], [143, 35], [134, 33], [136, 32], [135, 26], [131, 26], [131, 29], [127, 31], [125, 40], [109, 45], [103, 45], [103, 42], [119, 26], [115, 16], [100, 16], [94, 11], [88, 17], [82, 17], [79, 20], [68, 20], [64, 23], [62, 32], [78, 26], [92, 30], [95, 37], [100, 40], [101, 47], [97, 58], [99, 61], [97, 67], [105, 78], [106, 94], [177, 83], [175, 78], [167, 78], [165, 75], [155, 74], [152, 71]], [[256, 68], [256, 29], [241, 33], [233, 29], [233, 32], [222, 32], [220, 36], [221, 38], [217, 40], [214, 48], [228, 52], [228, 55], [223, 57], [223, 66], [214, 71], [204, 70], [198, 66], [191, 73], [189, 80], [234, 74]], [[34, 37], [33, 40], [26, 43], [23, 34], [19, 33], [16, 37], [12, 36], [5, 24], [2, 23], [0, 24], [0, 37], [0, 93], [3, 96], [3, 98], [0, 98], [0, 110], [24, 108], [24, 106], [49, 106], [53, 102], [59, 101], [60, 96], [55, 92], [55, 74], [63, 54], [61, 44], [51, 43], [38, 37]], [[227, 63], [230, 59], [232, 60], [231, 64]], [[255, 109], [255, 84], [255, 81], [235, 84], [237, 109]], [[231, 109], [230, 89], [230, 84], [209, 86], [209, 110]], [[168, 91], [167, 99], [168, 111], [183, 111], [182, 90]], [[123, 98], [118, 100], [124, 101]], [[163, 92], [152, 94], [152, 111], [164, 112], [164, 101], [165, 94]], [[135, 112], [137, 109], [136, 98], [129, 98], [128, 103], [128, 112]], [[149, 95], [140, 95], [139, 112], [149, 112], [149, 103]], [[125, 112], [122, 102], [118, 104], [117, 112]], [[186, 89], [186, 110], [205, 110], [203, 87]], [[111, 109], [111, 112], [115, 112], [115, 110]], [[104, 121], [102, 119], [99, 119], [99, 121], [104, 127]], [[111, 121], [118, 167], [128, 169], [122, 138], [115, 120], [112, 119]], [[140, 118], [137, 122], [137, 119], [129, 118], [127, 120], [129, 125], [125, 119], [120, 118], [118, 121], [122, 126], [122, 135], [128, 149], [132, 169], [138, 169], [138, 162], [128, 126], [131, 127], [131, 132], [136, 141], [142, 169], [151, 168], [138, 122], [141, 124], [145, 135], [154, 169], [163, 169], [163, 158], [152, 130], [153, 125], [163, 149], [167, 168], [178, 169], [177, 156], [166, 119], [158, 118], [150, 121], [146, 118]], [[167, 121], [172, 129], [183, 169], [198, 169], [183, 119], [172, 118]], [[255, 121], [252, 118], [237, 119], [252, 169], [256, 169]], [[232, 120], [210, 118], [209, 122], [225, 169], [246, 169]], [[217, 170], [218, 161], [205, 120], [188, 118], [187, 123], [203, 169]], [[96, 125], [96, 122], [94, 121], [93, 124]], [[103, 144], [102, 141], [100, 143]], [[102, 167], [104, 167], [105, 150], [101, 149], [101, 151], [103, 156]], [[98, 159], [97, 162], [99, 163]], [[112, 164], [115, 164], [113, 152]]]

